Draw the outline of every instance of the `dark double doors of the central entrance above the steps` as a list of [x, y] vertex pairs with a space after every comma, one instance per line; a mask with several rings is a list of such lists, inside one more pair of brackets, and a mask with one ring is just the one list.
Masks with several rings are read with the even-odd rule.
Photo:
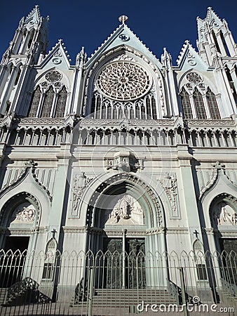
[[143, 289], [146, 287], [145, 240], [104, 238], [106, 273], [104, 287], [108, 289]]

